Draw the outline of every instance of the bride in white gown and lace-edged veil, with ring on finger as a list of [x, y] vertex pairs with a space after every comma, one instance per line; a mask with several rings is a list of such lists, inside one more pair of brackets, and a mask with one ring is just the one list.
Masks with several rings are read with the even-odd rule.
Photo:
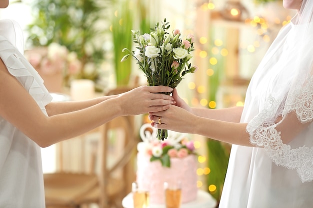
[[176, 104], [150, 114], [156, 128], [233, 144], [219, 208], [313, 207], [313, 0], [283, 6], [297, 14], [257, 67], [244, 107], [190, 108], [174, 90]]

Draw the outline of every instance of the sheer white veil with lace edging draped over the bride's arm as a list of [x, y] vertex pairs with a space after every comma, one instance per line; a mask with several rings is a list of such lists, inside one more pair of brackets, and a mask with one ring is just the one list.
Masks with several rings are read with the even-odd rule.
[[241, 122], [248, 122], [250, 142], [276, 165], [295, 169], [303, 183], [312, 181], [313, 0], [303, 0], [281, 29], [247, 92]]

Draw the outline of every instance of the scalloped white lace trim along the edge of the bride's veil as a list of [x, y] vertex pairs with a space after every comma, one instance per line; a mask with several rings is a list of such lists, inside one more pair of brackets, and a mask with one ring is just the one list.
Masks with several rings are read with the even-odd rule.
[[263, 147], [274, 164], [296, 169], [304, 183], [313, 180], [313, 147], [303, 145], [291, 149], [290, 145], [283, 144], [274, 122], [278, 115], [285, 116], [292, 111], [301, 123], [313, 120], [313, 77], [307, 77], [302, 87], [298, 85], [294, 89], [282, 102], [269, 97], [264, 105], [267, 108], [248, 123], [246, 131], [250, 135], [251, 144]]

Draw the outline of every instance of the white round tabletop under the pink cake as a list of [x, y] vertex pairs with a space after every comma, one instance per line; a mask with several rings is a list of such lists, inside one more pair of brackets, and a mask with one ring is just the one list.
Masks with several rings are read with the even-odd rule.
[[[133, 208], [132, 194], [122, 200], [123, 208]], [[180, 208], [215, 208], [216, 200], [207, 192], [198, 190], [196, 200], [181, 204]], [[165, 208], [165, 205], [150, 205], [149, 208]]]

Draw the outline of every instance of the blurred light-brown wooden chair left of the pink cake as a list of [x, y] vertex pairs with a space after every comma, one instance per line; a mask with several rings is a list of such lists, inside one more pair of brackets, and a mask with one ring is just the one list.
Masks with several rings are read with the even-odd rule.
[[[122, 208], [121, 200], [131, 191], [131, 182], [135, 180], [132, 156], [137, 141], [133, 127], [134, 116], [117, 117], [101, 126], [102, 137], [89, 144], [90, 173], [44, 174], [46, 208], [81, 208], [92, 203], [99, 208]], [[113, 142], [118, 150], [112, 153], [109, 144]], [[108, 160], [109, 154], [114, 161]]]

